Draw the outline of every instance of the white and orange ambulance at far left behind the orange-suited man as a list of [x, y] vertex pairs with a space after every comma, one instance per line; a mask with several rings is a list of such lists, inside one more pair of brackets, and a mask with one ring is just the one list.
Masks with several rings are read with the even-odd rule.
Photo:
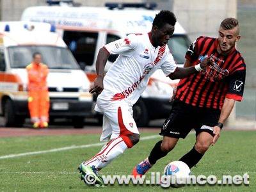
[[0, 114], [5, 127], [22, 127], [28, 111], [26, 66], [34, 52], [49, 67], [50, 118], [71, 118], [83, 127], [92, 114], [90, 81], [54, 26], [40, 22], [0, 22]]

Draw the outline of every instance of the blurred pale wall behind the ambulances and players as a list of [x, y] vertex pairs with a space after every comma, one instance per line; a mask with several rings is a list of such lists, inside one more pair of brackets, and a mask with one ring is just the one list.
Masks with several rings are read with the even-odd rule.
[[[104, 6], [106, 2], [141, 3], [150, 0], [74, 0], [81, 6]], [[156, 2], [156, 1], [154, 1]], [[159, 0], [157, 9], [172, 10], [193, 41], [197, 36], [217, 36], [221, 20], [236, 17], [241, 26], [237, 45], [247, 65], [244, 101], [236, 106], [236, 117], [256, 120], [255, 16], [256, 0]], [[0, 0], [1, 20], [20, 20], [28, 6], [47, 5], [45, 0]]]

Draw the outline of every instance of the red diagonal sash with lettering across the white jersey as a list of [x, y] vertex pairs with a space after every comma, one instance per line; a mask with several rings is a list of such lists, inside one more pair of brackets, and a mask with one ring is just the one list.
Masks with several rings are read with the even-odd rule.
[[140, 85], [140, 83], [144, 79], [144, 77], [147, 74], [149, 74], [150, 70], [152, 70], [152, 68], [161, 60], [164, 52], [165, 52], [165, 46], [160, 47], [159, 51], [157, 53], [156, 60], [154, 60], [153, 63], [147, 63], [147, 65], [145, 65], [143, 74], [142, 74], [142, 76], [140, 76], [140, 79], [138, 81], [136, 81], [135, 83], [133, 83], [131, 86], [129, 86], [127, 89], [125, 89], [122, 93], [116, 93], [111, 98], [111, 100], [122, 100], [122, 99], [129, 97], [129, 95], [131, 95], [131, 93], [134, 92], [134, 90], [136, 90], [136, 88], [138, 88], [138, 86]]

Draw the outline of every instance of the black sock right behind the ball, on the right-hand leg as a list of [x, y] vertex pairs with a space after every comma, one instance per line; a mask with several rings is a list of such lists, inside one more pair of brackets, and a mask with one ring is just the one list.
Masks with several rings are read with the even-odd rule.
[[195, 146], [183, 157], [180, 158], [179, 161], [183, 161], [184, 163], [188, 164], [189, 168], [192, 168], [200, 161], [200, 159], [204, 156], [204, 154], [200, 154], [196, 149]]

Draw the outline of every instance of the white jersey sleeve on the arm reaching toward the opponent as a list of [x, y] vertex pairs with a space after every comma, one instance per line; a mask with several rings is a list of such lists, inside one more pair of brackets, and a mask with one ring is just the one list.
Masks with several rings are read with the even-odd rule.
[[173, 59], [172, 53], [170, 53], [169, 49], [166, 49], [167, 53], [164, 56], [163, 64], [161, 65], [161, 69], [163, 70], [166, 76], [169, 76], [172, 72], [175, 71], [177, 65]]

